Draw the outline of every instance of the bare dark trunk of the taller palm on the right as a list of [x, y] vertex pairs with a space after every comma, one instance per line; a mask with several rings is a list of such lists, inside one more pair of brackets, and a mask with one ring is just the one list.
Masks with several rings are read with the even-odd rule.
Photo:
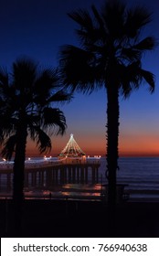
[[107, 86], [107, 178], [108, 205], [111, 214], [116, 207], [116, 172], [118, 168], [119, 91], [118, 85]]

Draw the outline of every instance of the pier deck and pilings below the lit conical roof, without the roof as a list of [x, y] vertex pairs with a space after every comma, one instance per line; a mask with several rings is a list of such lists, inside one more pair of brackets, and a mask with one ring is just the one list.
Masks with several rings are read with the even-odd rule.
[[[26, 164], [25, 187], [52, 187], [60, 184], [96, 184], [99, 182], [100, 161], [85, 163], [51, 162]], [[0, 168], [0, 188], [13, 186], [13, 165], [5, 164]]]

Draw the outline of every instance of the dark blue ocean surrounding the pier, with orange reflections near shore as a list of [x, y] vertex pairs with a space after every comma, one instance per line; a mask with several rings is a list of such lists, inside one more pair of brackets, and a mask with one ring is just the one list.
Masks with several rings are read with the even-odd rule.
[[[39, 158], [38, 158], [39, 160]], [[25, 187], [26, 198], [87, 198], [99, 199], [101, 190], [107, 184], [105, 177], [106, 159], [101, 157], [98, 184], [57, 184], [51, 187]], [[0, 197], [10, 197], [5, 190], [5, 176], [1, 176]], [[121, 157], [117, 171], [117, 183], [125, 185], [130, 200], [159, 201], [159, 157]]]

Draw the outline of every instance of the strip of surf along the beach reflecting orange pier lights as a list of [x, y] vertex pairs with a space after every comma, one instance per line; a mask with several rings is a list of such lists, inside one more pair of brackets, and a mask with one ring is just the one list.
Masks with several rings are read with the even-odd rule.
[[[81, 200], [81, 201], [104, 201], [101, 196], [103, 190], [100, 186], [96, 189], [91, 187], [76, 188], [75, 187], [30, 187], [25, 189], [26, 200]], [[146, 189], [125, 189], [123, 191], [123, 201], [125, 202], [159, 202], [159, 190]], [[12, 190], [0, 190], [0, 200], [12, 199]]]

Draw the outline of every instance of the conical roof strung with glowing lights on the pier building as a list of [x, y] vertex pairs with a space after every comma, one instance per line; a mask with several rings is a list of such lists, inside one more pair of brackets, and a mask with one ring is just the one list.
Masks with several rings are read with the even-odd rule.
[[86, 155], [80, 148], [79, 144], [75, 141], [73, 134], [70, 134], [69, 142], [65, 148], [61, 151], [59, 156], [67, 157], [81, 157]]

